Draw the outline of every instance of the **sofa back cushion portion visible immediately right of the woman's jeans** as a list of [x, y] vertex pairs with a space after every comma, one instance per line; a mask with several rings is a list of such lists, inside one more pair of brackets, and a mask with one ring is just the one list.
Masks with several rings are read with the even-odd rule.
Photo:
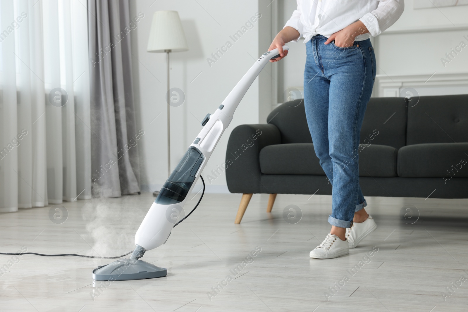
[[[359, 143], [373, 137], [372, 144], [400, 148], [406, 145], [407, 107], [402, 97], [373, 97], [367, 103]], [[368, 143], [367, 143], [368, 144]]]

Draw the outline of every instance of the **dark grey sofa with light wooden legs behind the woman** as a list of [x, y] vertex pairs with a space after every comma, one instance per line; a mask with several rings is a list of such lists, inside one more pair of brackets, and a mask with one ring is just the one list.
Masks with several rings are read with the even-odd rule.
[[[417, 104], [415, 105], [415, 103]], [[227, 144], [227, 187], [252, 194], [331, 195], [315, 156], [302, 100], [274, 109], [266, 124], [236, 127]], [[361, 129], [364, 196], [468, 198], [468, 94], [371, 98]]]

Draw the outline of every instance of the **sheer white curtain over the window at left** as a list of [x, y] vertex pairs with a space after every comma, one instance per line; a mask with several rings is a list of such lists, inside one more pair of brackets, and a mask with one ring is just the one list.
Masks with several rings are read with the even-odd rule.
[[86, 5], [0, 1], [0, 212], [91, 198]]

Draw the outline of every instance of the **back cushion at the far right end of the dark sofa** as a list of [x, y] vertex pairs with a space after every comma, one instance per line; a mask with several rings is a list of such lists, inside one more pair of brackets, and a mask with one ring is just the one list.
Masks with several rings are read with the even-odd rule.
[[412, 105], [406, 145], [468, 142], [468, 94], [421, 96]]

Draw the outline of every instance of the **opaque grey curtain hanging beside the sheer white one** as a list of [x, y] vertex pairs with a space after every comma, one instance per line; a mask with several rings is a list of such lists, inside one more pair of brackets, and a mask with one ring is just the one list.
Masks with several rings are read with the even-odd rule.
[[139, 193], [128, 0], [88, 0], [93, 196]]

